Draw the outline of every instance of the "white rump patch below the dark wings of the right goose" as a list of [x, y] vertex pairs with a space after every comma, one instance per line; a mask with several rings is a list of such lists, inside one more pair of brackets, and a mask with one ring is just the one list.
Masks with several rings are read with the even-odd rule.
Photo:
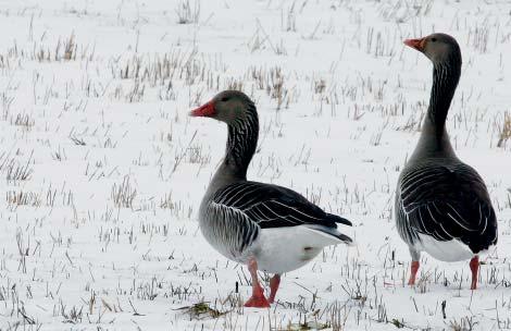
[[468, 260], [474, 256], [474, 253], [472, 253], [469, 246], [458, 240], [440, 242], [424, 234], [419, 234], [419, 237], [422, 243], [417, 242], [415, 244], [415, 249], [419, 252], [426, 252], [440, 261], [461, 261]]

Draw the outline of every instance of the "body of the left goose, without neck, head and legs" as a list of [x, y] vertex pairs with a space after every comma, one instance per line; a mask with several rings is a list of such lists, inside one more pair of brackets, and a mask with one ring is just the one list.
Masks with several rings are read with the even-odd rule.
[[200, 209], [200, 229], [226, 258], [284, 273], [313, 259], [323, 247], [350, 240], [337, 231], [345, 219], [324, 212], [277, 185], [240, 181], [219, 188]]

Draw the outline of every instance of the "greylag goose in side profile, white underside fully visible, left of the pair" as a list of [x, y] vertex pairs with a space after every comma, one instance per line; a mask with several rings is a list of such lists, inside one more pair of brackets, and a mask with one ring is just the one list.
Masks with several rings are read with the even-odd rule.
[[[252, 296], [245, 306], [270, 307], [281, 274], [304, 266], [325, 246], [351, 244], [351, 238], [337, 230], [337, 223], [351, 223], [291, 189], [247, 181], [259, 120], [254, 103], [245, 94], [222, 91], [190, 115], [213, 118], [228, 127], [225, 157], [199, 208], [199, 228], [219, 253], [248, 266]], [[274, 273], [269, 299], [258, 270]]]

